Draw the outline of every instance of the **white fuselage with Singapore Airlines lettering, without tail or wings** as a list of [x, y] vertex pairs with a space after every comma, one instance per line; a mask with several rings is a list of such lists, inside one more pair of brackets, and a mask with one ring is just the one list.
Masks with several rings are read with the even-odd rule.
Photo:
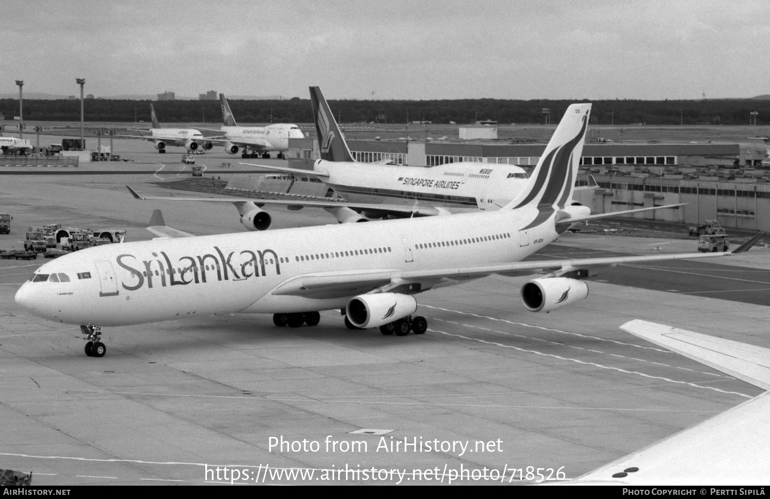
[[319, 159], [313, 168], [349, 203], [499, 209], [527, 185], [519, 166], [457, 162], [422, 166], [374, 165]]

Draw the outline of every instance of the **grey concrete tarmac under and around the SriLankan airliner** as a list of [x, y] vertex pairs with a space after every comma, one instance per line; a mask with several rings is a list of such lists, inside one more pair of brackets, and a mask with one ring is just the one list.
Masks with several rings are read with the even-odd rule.
[[[169, 195], [153, 182], [189, 169], [169, 153], [159, 170], [148, 143], [122, 142], [136, 149], [120, 153], [134, 156], [131, 169], [141, 172], [0, 176], [0, 212], [14, 216], [0, 248], [21, 246], [25, 226], [45, 223], [121, 227], [129, 240], [150, 239], [144, 226], [155, 208], [169, 226], [191, 233], [244, 230], [233, 206], [133, 199], [126, 183]], [[234, 162], [223, 153], [200, 157]], [[111, 167], [118, 166], [89, 166]], [[315, 209], [276, 209], [273, 219], [274, 227], [336, 223]], [[560, 239], [544, 258], [696, 244]], [[85, 356], [79, 327], [15, 305], [15, 291], [42, 259], [0, 260], [0, 467], [33, 471], [35, 485], [578, 477], [762, 393], [618, 329], [639, 318], [770, 347], [770, 309], [745, 303], [768, 294], [770, 250], [716, 260], [676, 272], [618, 266], [589, 283], [588, 299], [552, 313], [524, 309], [524, 278], [490, 276], [421, 293], [417, 313], [428, 331], [420, 336], [347, 330], [339, 311], [296, 329], [239, 314], [110, 327], [102, 358]], [[719, 293], [691, 293], [706, 282]], [[749, 298], [729, 298], [736, 289]]]

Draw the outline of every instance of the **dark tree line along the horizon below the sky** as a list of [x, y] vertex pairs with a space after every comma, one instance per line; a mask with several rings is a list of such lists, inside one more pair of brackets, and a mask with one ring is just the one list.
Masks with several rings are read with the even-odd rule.
[[[490, 119], [500, 124], [551, 123], [561, 119], [564, 110], [577, 100], [333, 100], [330, 107], [340, 122], [405, 123], [473, 123]], [[615, 99], [594, 103], [591, 122], [594, 125], [757, 125], [770, 122], [770, 100], [708, 99], [647, 101]], [[85, 121], [150, 122], [150, 101], [86, 99]], [[219, 123], [222, 114], [219, 101], [174, 100], [152, 102], [163, 123]], [[310, 99], [233, 100], [230, 109], [241, 123], [313, 122]], [[545, 111], [547, 109], [547, 112]], [[0, 99], [0, 114], [6, 120], [18, 116], [18, 99]], [[25, 99], [24, 120], [80, 120], [80, 101], [71, 99]], [[751, 123], [750, 123], [751, 121]]]

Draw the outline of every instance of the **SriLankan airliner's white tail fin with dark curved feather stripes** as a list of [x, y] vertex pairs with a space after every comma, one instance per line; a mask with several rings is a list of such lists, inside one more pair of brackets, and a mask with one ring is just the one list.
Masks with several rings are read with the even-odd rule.
[[567, 206], [577, 180], [590, 114], [591, 104], [572, 104], [567, 108], [527, 187], [503, 209], [537, 206], [541, 214], [550, 215]]

